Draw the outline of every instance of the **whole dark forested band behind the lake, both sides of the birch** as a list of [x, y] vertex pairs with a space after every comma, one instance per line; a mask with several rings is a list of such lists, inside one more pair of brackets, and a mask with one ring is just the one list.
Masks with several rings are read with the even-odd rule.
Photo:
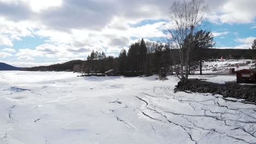
[[[207, 59], [253, 59], [255, 50], [242, 49], [196, 49], [191, 53], [190, 70], [200, 67], [200, 61]], [[161, 43], [145, 43], [139, 40], [129, 49], [121, 50], [119, 57], [106, 56], [104, 52], [92, 51], [86, 61], [74, 60], [61, 64], [27, 68], [30, 71], [75, 71], [85, 75], [104, 75], [114, 69], [120, 75], [138, 76], [173, 74], [174, 63], [179, 63], [179, 52]]]

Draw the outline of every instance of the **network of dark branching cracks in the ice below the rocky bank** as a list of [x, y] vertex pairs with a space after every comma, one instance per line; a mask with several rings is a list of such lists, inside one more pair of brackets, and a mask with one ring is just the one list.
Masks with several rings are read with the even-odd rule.
[[[162, 87], [160, 87], [160, 88], [163, 89]], [[156, 93], [156, 87], [154, 87], [153, 92]], [[148, 95], [147, 93], [143, 93], [143, 94]], [[161, 93], [156, 93], [156, 94], [161, 94]], [[167, 94], [167, 93], [166, 93], [166, 94]], [[212, 132], [213, 132], [213, 133], [218, 133], [219, 135], [223, 135], [223, 134], [225, 134], [225, 133], [221, 133], [220, 131], [218, 131], [217, 129], [214, 129], [214, 128], [212, 128], [212, 129], [206, 129], [206, 128], [203, 128], [203, 127], [199, 127], [199, 126], [196, 125], [195, 123], [189, 121], [189, 119], [188, 119], [187, 117], [208, 117], [208, 118], [214, 118], [214, 119], [216, 119], [217, 121], [224, 122], [224, 124], [225, 124], [226, 126], [228, 126], [228, 127], [236, 127], [236, 128], [234, 128], [234, 129], [230, 129], [230, 130], [241, 129], [241, 130], [244, 131], [246, 134], [248, 134], [248, 135], [250, 135], [250, 136], [252, 136], [252, 137], [255, 137], [254, 134], [256, 133], [256, 130], [254, 130], [253, 128], [252, 128], [252, 129], [250, 128], [250, 130], [246, 130], [246, 129], [243, 128], [243, 127], [237, 127], [237, 125], [228, 125], [228, 124], [226, 123], [226, 121], [231, 121], [231, 122], [238, 122], [238, 123], [243, 123], [243, 124], [255, 124], [256, 121], [242, 121], [242, 120], [241, 120], [241, 119], [243, 118], [243, 115], [241, 115], [241, 114], [244, 114], [245, 116], [248, 116], [248, 117], [250, 117], [250, 118], [256, 120], [256, 118], [255, 118], [254, 116], [248, 115], [247, 113], [245, 113], [245, 112], [242, 111], [242, 110], [253, 110], [254, 112], [256, 112], [256, 110], [253, 109], [253, 108], [241, 108], [241, 109], [236, 108], [236, 109], [234, 109], [234, 108], [231, 108], [231, 107], [229, 107], [229, 106], [222, 105], [222, 104], [219, 103], [220, 99], [223, 99], [223, 100], [225, 100], [225, 101], [232, 101], [232, 100], [228, 100], [228, 99], [225, 99], [225, 98], [222, 98], [222, 97], [215, 97], [215, 96], [214, 96], [214, 97], [215, 97], [214, 99], [207, 99], [207, 100], [200, 100], [200, 101], [197, 101], [197, 100], [195, 100], [195, 99], [193, 99], [193, 98], [176, 97], [176, 96], [173, 95], [173, 94], [167, 94], [167, 95], [172, 95], [172, 96], [173, 96], [173, 99], [174, 99], [174, 100], [178, 100], [180, 103], [189, 104], [189, 105], [191, 106], [191, 108], [192, 108], [194, 111], [196, 111], [196, 109], [195, 109], [195, 107], [194, 107], [191, 103], [197, 103], [197, 104], [201, 104], [201, 105], [205, 105], [205, 106], [219, 106], [219, 107], [224, 107], [226, 110], [233, 110], [233, 111], [235, 111], [235, 113], [228, 112], [228, 111], [226, 111], [226, 112], [218, 112], [218, 111], [217, 111], [217, 112], [213, 112], [212, 110], [203, 109], [203, 107], [201, 107], [201, 110], [203, 111], [204, 115], [190, 115], [190, 114], [185, 114], [185, 113], [176, 113], [176, 112], [172, 112], [172, 111], [163, 110], [163, 109], [161, 109], [160, 107], [158, 107], [158, 106], [156, 106], [156, 105], [153, 105], [153, 104], [149, 104], [147, 101], [143, 100], [142, 98], [137, 97], [139, 100], [142, 100], [142, 101], [144, 101], [144, 103], [146, 103], [146, 106], [145, 106], [146, 108], [143, 109], [143, 110], [141, 110], [141, 112], [143, 113], [143, 115], [146, 116], [146, 117], [148, 117], [148, 118], [150, 118], [150, 119], [153, 119], [153, 120], [155, 120], [155, 121], [165, 122], [165, 121], [162, 121], [162, 120], [160, 120], [160, 119], [158, 119], [158, 118], [155, 118], [155, 117], [153, 117], [153, 116], [150, 116], [148, 113], [144, 112], [144, 110], [152, 110], [152, 111], [155, 111], [156, 113], [159, 113], [161, 116], [165, 117], [166, 120], [167, 120], [169, 123], [173, 123], [173, 124], [175, 124], [175, 125], [178, 125], [178, 126], [182, 127], [182, 128], [188, 133], [188, 135], [189, 135], [191, 141], [194, 141], [194, 140], [193, 140], [192, 135], [189, 133], [189, 131], [187, 131], [187, 129], [201, 129], [201, 130], [209, 131], [205, 136], [201, 137], [200, 140], [202, 140], [204, 137], [206, 137], [207, 135], [211, 134]], [[208, 95], [208, 94], [207, 94], [207, 95]], [[154, 96], [154, 95], [148, 95], [148, 96], [149, 96], [149, 97], [154, 97], [154, 98], [162, 98], [162, 97], [156, 97], [156, 96]], [[184, 100], [183, 98], [185, 98], [186, 100]], [[191, 99], [191, 100], [189, 100], [189, 99]], [[213, 101], [213, 104], [204, 104], [204, 103], [202, 103], [202, 102], [205, 102], [205, 101]], [[224, 101], [224, 102], [225, 102], [225, 101]], [[188, 102], [188, 103], [185, 103], [185, 102]], [[235, 101], [235, 102], [240, 102], [240, 101]], [[240, 102], [240, 103], [242, 103], [242, 102]], [[154, 109], [151, 109], [149, 106], [150, 106], [150, 107], [153, 106]], [[183, 126], [183, 125], [181, 125], [181, 124], [171, 122], [163, 113], [157, 111], [156, 108], [158, 108], [158, 109], [161, 110], [162, 112], [165, 112], [165, 113], [172, 113], [172, 115], [181, 116], [181, 117], [187, 119], [188, 122], [190, 122], [191, 124], [193, 124], [194, 128], [193, 128], [193, 127], [185, 127], [185, 126]], [[140, 109], [138, 109], [138, 110], [140, 110]], [[199, 110], [197, 110], [197, 111], [199, 111]], [[217, 115], [217, 116], [207, 115], [207, 114], [206, 114], [207, 111], [209, 111], [209, 112], [211, 112], [211, 113], [213, 113], [213, 114], [220, 114], [220, 116], [218, 116], [218, 115]], [[224, 117], [222, 117], [222, 115], [236, 115], [236, 116], [238, 116], [238, 119], [224, 118]], [[187, 117], [186, 117], [186, 116], [187, 116]], [[245, 143], [252, 143], [252, 142], [248, 142], [247, 140], [243, 140], [243, 139], [237, 138], [237, 137], [235, 137], [235, 136], [230, 136], [230, 135], [226, 135], [226, 136], [230, 137], [231, 139], [235, 139], [235, 140], [237, 140], [237, 141], [243, 141], [243, 142], [245, 142]], [[255, 138], [256, 138], [256, 137], [255, 137]], [[200, 141], [200, 140], [199, 140], [199, 141]], [[197, 141], [194, 141], [194, 142], [197, 143]]]

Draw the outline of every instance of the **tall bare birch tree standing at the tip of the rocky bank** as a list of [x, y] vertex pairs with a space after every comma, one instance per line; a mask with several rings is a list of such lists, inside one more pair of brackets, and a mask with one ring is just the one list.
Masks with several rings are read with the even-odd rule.
[[[179, 67], [174, 69], [181, 82], [188, 81], [190, 50], [193, 47], [193, 35], [200, 30], [208, 11], [203, 0], [176, 1], [170, 8], [170, 27], [167, 29], [168, 43], [172, 49], [179, 50]], [[184, 43], [184, 40], [187, 40]]]

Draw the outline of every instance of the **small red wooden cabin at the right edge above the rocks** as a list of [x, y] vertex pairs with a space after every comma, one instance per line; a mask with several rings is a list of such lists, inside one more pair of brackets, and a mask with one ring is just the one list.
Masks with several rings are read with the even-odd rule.
[[237, 83], [256, 83], [256, 69], [242, 69], [235, 71]]

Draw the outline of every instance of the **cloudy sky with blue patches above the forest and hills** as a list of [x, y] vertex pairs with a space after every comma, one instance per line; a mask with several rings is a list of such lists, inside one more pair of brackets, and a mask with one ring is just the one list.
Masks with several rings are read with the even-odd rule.
[[[118, 56], [140, 38], [165, 40], [173, 0], [0, 0], [0, 62], [19, 67]], [[207, 0], [205, 29], [219, 49], [256, 39], [255, 0]]]

